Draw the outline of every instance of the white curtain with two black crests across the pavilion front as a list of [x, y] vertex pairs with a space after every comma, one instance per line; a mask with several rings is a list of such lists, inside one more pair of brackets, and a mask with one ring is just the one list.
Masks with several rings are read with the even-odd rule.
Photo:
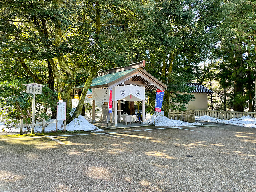
[[116, 86], [113, 89], [113, 101], [141, 101], [145, 100], [145, 87], [135, 85]]

